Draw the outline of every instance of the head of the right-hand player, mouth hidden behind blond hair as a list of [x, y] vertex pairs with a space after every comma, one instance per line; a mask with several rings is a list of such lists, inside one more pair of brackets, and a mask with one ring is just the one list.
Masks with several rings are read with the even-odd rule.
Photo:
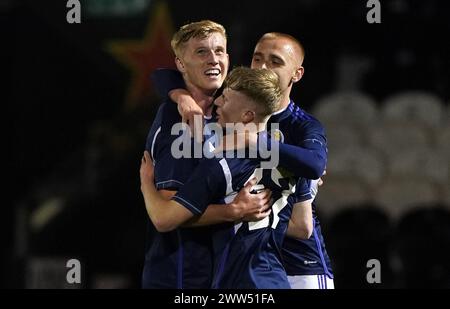
[[297, 43], [284, 36], [264, 35], [253, 53], [251, 67], [274, 71], [280, 78], [280, 87], [289, 96], [292, 84], [303, 76], [303, 51]]

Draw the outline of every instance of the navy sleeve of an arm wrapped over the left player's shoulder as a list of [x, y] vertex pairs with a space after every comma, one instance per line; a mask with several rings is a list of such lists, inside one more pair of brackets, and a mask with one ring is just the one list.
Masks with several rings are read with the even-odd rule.
[[169, 92], [174, 89], [186, 89], [183, 76], [180, 71], [173, 69], [156, 69], [151, 75], [151, 79], [157, 93], [162, 98], [168, 98]]

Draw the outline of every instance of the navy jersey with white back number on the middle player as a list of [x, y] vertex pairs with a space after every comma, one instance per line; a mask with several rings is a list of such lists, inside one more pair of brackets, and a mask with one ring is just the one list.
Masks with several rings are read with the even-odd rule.
[[[213, 288], [289, 288], [281, 261], [281, 243], [292, 206], [311, 198], [306, 181], [286, 171], [262, 169], [259, 159], [205, 159], [173, 199], [195, 214], [211, 203], [230, 202], [245, 183], [256, 177], [258, 188], [272, 191], [269, 217], [257, 222], [213, 227], [215, 270]], [[226, 207], [226, 206], [224, 206]]]

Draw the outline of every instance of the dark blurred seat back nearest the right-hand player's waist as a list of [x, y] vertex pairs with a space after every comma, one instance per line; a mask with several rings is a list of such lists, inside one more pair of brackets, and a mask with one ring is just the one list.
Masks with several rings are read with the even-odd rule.
[[[393, 235], [392, 222], [374, 204], [349, 204], [325, 225], [327, 251], [332, 257], [336, 288], [373, 288], [392, 285], [389, 245]], [[366, 280], [367, 261], [381, 264], [382, 285]]]

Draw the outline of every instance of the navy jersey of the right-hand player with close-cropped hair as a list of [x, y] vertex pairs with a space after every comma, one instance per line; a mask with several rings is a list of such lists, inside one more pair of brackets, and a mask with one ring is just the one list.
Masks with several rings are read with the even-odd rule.
[[[269, 119], [269, 127], [278, 123], [282, 136], [280, 142], [312, 149], [326, 158], [327, 147], [325, 130], [312, 115], [296, 106], [292, 101], [283, 112]], [[283, 162], [280, 162], [283, 165]], [[307, 181], [308, 185], [310, 181]], [[333, 278], [330, 258], [325, 249], [325, 242], [313, 202], [313, 233], [307, 240], [286, 236], [282, 254], [288, 275], [328, 275]]]

